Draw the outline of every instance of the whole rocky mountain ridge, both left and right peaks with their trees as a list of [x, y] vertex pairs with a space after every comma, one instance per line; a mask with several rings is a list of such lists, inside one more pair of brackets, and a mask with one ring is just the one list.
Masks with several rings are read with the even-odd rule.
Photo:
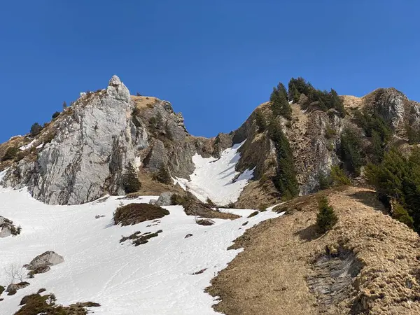
[[[179, 191], [172, 178], [189, 178], [193, 155], [218, 158], [244, 141], [236, 170], [254, 172], [237, 206], [258, 207], [337, 181], [367, 183], [366, 165], [379, 165], [391, 147], [409, 152], [420, 142], [420, 106], [398, 90], [349, 97], [303, 78], [287, 86], [277, 84], [269, 102], [237, 130], [207, 139], [189, 134], [172, 104], [132, 96], [113, 76], [106, 89], [80, 94], [50, 123], [35, 123], [25, 137], [1, 144], [0, 170], [8, 169], [3, 184], [28, 186], [50, 204]], [[139, 183], [132, 181], [136, 176]]]

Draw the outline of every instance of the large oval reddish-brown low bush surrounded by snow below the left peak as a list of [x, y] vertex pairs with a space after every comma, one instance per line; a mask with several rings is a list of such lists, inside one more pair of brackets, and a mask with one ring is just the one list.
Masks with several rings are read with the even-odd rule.
[[115, 224], [134, 225], [144, 221], [155, 220], [167, 216], [169, 211], [153, 204], [127, 204], [119, 207], [113, 214]]

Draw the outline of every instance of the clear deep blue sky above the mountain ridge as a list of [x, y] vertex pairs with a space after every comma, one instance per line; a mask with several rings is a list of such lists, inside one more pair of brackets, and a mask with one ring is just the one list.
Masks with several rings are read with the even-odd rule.
[[420, 100], [419, 11], [415, 0], [3, 1], [0, 141], [114, 73], [207, 137], [235, 130], [293, 76]]

